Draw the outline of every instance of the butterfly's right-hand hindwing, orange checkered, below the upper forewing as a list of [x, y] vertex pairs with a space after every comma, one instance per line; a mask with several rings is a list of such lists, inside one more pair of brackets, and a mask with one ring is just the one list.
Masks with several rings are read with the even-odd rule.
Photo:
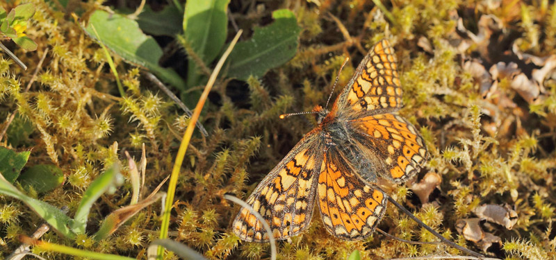
[[[382, 157], [382, 177], [402, 183], [420, 171], [429, 157], [423, 137], [398, 114], [377, 114], [350, 121], [363, 148]], [[363, 177], [363, 179], [365, 179]]]

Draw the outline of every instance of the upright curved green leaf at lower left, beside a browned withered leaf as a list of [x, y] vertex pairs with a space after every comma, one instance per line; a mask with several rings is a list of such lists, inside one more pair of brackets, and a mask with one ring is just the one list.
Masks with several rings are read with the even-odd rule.
[[79, 207], [77, 207], [75, 212], [74, 223], [71, 225], [72, 231], [76, 232], [76, 234], [85, 234], [85, 227], [87, 227], [87, 219], [92, 204], [106, 191], [115, 191], [115, 187], [122, 184], [122, 178], [120, 166], [114, 164], [90, 184], [85, 193], [83, 193], [83, 198], [81, 198]]

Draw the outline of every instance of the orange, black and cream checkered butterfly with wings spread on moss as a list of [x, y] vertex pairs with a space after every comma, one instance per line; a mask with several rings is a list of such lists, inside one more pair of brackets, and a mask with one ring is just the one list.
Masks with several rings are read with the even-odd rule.
[[338, 239], [364, 239], [384, 216], [387, 195], [379, 177], [402, 183], [429, 154], [414, 125], [396, 112], [402, 88], [393, 48], [375, 44], [330, 111], [316, 106], [318, 125], [279, 162], [247, 199], [270, 225], [268, 234], [249, 209], [232, 224], [243, 241], [288, 239], [303, 232], [317, 205]]

